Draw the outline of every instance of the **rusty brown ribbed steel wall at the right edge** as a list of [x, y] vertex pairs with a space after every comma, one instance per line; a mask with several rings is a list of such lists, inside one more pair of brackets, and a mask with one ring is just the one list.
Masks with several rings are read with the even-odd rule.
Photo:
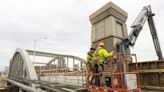
[[[141, 87], [146, 89], [163, 90], [164, 91], [164, 61], [154, 60], [139, 62], [139, 75]], [[129, 64], [129, 71], [136, 71], [136, 63]], [[154, 92], [154, 91], [152, 91]]]

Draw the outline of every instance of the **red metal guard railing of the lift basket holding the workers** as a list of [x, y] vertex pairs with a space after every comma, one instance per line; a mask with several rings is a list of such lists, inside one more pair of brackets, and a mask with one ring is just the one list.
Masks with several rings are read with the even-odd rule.
[[[111, 59], [111, 62], [107, 64], [108, 66], [105, 64], [103, 65], [104, 67], [107, 66], [104, 68], [104, 71], [93, 74], [93, 76], [99, 77], [100, 85], [86, 84], [84, 87], [94, 92], [140, 92], [139, 73], [138, 71], [128, 72], [129, 61], [136, 62], [136, 68], [138, 70], [136, 54], [117, 54], [117, 58]], [[99, 65], [99, 63], [97, 64]], [[130, 81], [127, 81], [128, 79], [126, 78], [129, 74], [136, 75], [136, 82], [132, 81], [133, 83], [136, 83], [136, 88], [128, 87], [128, 82]], [[106, 85], [105, 76], [111, 78], [110, 86]], [[131, 85], [133, 85], [133, 83]]]

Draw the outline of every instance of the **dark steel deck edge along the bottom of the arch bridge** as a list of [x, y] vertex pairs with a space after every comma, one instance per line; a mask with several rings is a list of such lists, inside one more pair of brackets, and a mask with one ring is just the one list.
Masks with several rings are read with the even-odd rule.
[[[11, 80], [14, 80], [12, 82]], [[50, 82], [50, 81], [38, 81], [38, 80], [25, 80], [25, 79], [10, 79], [7, 78], [7, 81], [9, 83], [15, 84], [16, 86], [22, 87], [22, 86], [29, 86], [29, 84], [33, 83], [35, 85], [38, 85], [38, 88], [50, 92], [75, 92], [76, 89], [82, 88], [82, 86], [77, 85], [69, 85], [64, 83], [57, 83], [57, 82]], [[17, 84], [19, 83], [19, 84]], [[33, 88], [29, 87], [26, 90], [33, 90]], [[35, 91], [32, 91], [35, 92]]]

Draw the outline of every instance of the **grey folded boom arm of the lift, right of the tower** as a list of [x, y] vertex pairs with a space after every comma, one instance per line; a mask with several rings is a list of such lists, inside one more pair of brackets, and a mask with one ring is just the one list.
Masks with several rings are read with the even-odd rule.
[[145, 6], [142, 9], [142, 11], [140, 12], [140, 14], [138, 15], [138, 17], [136, 18], [136, 20], [131, 25], [132, 31], [130, 32], [129, 36], [127, 38], [123, 39], [123, 41], [121, 43], [118, 43], [116, 45], [118, 52], [123, 53], [124, 52], [123, 48], [125, 49], [129, 46], [134, 47], [137, 37], [138, 37], [140, 31], [142, 30], [143, 25], [145, 24], [145, 21], [148, 20], [148, 24], [149, 24], [152, 39], [154, 42], [156, 54], [157, 54], [159, 60], [163, 59], [159, 40], [158, 40], [158, 35], [157, 35], [154, 21], [153, 21], [153, 16], [154, 16], [154, 14], [151, 11], [150, 5]]

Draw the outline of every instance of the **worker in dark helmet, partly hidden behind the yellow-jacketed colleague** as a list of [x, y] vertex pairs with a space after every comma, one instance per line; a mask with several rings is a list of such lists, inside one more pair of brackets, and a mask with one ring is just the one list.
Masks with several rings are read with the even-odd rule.
[[[87, 53], [87, 75], [86, 75], [86, 84], [92, 84], [93, 81], [93, 69], [92, 69], [92, 57], [93, 53], [95, 51], [95, 48], [90, 48], [90, 51]], [[91, 79], [91, 80], [90, 80]]]

